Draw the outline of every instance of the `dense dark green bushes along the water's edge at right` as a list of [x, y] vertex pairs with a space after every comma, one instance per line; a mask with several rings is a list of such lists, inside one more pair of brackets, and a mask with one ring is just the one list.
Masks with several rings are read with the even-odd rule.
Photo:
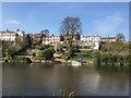
[[100, 54], [97, 53], [95, 56], [95, 63], [97, 65], [108, 65], [108, 66], [124, 66], [128, 65], [130, 66], [131, 64], [131, 56], [116, 56], [116, 54]]

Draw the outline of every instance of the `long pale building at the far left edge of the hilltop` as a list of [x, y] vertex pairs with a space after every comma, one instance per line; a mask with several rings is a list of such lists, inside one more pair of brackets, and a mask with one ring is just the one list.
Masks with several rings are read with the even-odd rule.
[[16, 33], [7, 29], [5, 32], [0, 32], [0, 40], [2, 41], [15, 41]]

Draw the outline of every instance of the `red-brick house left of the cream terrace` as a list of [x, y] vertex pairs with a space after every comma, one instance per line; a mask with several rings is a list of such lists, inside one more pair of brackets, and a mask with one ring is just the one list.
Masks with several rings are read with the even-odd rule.
[[41, 33], [34, 34], [31, 36], [31, 38], [32, 38], [33, 44], [39, 45], [43, 42], [43, 34]]

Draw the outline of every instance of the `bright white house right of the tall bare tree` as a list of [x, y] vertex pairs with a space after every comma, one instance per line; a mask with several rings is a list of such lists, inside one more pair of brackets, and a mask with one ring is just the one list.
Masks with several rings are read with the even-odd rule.
[[81, 36], [81, 46], [82, 47], [90, 47], [90, 49], [97, 49], [99, 48], [100, 44], [100, 36]]

